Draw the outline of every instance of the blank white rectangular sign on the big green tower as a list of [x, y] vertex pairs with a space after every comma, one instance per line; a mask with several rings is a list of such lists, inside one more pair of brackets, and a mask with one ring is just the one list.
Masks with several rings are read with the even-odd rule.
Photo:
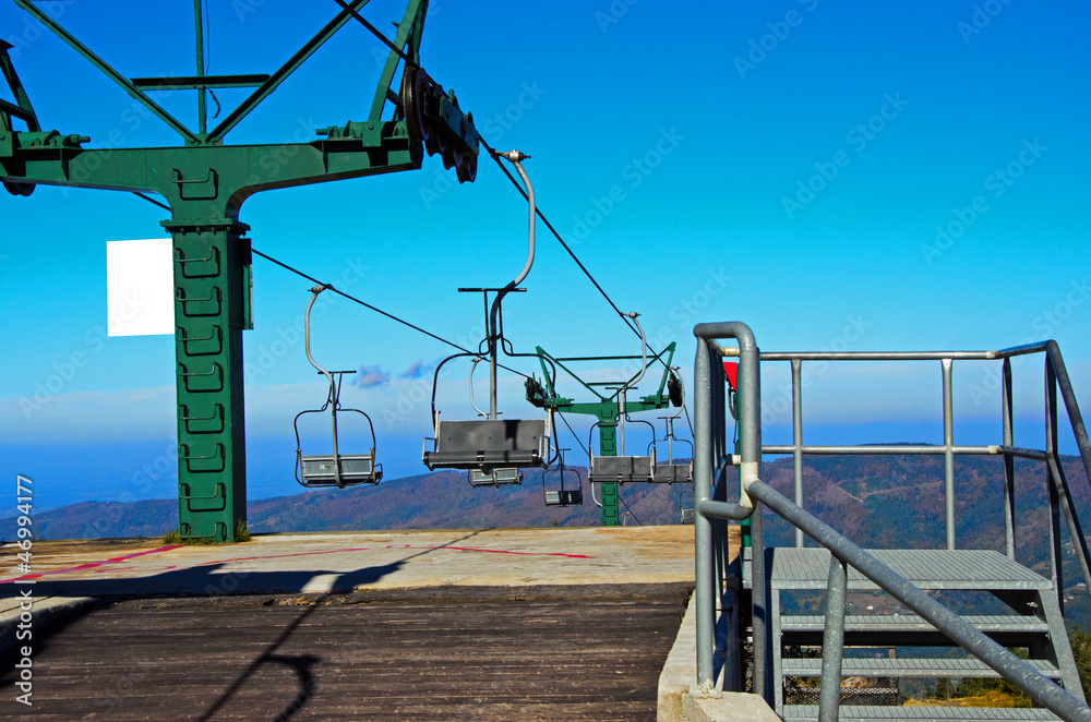
[[171, 240], [107, 242], [106, 289], [109, 336], [173, 334]]

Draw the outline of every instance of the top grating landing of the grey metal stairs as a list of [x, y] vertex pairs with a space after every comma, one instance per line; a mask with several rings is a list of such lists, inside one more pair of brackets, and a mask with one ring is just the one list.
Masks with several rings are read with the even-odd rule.
[[[771, 589], [825, 589], [829, 578], [829, 551], [776, 547], [768, 550]], [[1004, 589], [1052, 589], [1053, 582], [1012, 562], [999, 552], [959, 550], [868, 550], [879, 562], [921, 589], [993, 591]], [[752, 579], [751, 561], [743, 563], [746, 588]], [[878, 587], [856, 569], [849, 568], [849, 589]]]

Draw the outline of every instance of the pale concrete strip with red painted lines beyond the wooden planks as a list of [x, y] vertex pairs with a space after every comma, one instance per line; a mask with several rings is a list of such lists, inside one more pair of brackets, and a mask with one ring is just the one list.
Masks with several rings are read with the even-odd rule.
[[207, 546], [36, 542], [29, 574], [16, 551], [0, 549], [0, 600], [32, 580], [39, 598], [135, 598], [694, 578], [692, 526], [267, 534]]

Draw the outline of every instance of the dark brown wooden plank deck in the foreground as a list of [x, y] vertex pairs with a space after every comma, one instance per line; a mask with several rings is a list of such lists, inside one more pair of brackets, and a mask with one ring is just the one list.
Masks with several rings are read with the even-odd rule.
[[35, 634], [20, 720], [655, 720], [688, 583], [119, 601]]

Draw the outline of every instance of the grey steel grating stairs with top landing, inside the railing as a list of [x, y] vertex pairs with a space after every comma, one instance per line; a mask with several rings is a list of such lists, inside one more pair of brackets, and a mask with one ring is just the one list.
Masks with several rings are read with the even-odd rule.
[[[743, 553], [743, 583], [751, 587], [750, 551]], [[964, 618], [1005, 647], [1026, 648], [1029, 663], [1045, 676], [1083, 699], [1079, 674], [1072, 659], [1057, 592], [1051, 580], [987, 550], [874, 550], [878, 561], [922, 590], [988, 592], [1006, 605], [1005, 614], [975, 614]], [[786, 720], [816, 720], [815, 705], [786, 705], [789, 677], [817, 677], [822, 660], [791, 655], [802, 648], [820, 648], [822, 614], [783, 614], [784, 592], [826, 589], [830, 555], [826, 549], [776, 547], [766, 550], [766, 609], [771, 631], [769, 650], [775, 709]], [[855, 569], [849, 570], [849, 591], [878, 588]], [[994, 605], [995, 607], [995, 605]], [[898, 659], [886, 651], [899, 649]], [[907, 650], [904, 648], [914, 648]], [[843, 677], [871, 679], [997, 677], [997, 673], [975, 659], [933, 657], [945, 649], [960, 650], [930, 623], [914, 614], [859, 614], [846, 616]], [[851, 650], [877, 651], [853, 655]], [[859, 654], [859, 652], [858, 652]], [[842, 698], [849, 690], [842, 688]], [[841, 720], [1052, 720], [1042, 709], [991, 709], [959, 707], [898, 707], [842, 703]]]

